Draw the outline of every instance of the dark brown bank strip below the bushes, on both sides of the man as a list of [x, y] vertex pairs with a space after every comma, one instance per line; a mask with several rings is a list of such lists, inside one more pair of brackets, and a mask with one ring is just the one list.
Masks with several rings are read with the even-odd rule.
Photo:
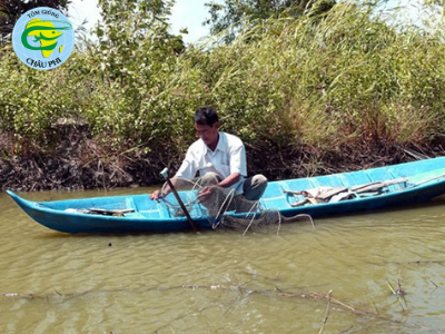
[[[139, 187], [160, 184], [159, 171], [179, 167], [184, 153], [162, 147], [146, 151], [131, 141], [113, 145], [110, 138], [92, 138], [87, 128], [59, 127], [51, 148], [27, 144], [19, 155], [13, 135], [0, 135], [0, 188], [18, 191], [76, 190]], [[24, 145], [24, 143], [23, 143]], [[407, 163], [445, 155], [445, 143], [425, 149], [385, 143], [344, 143], [330, 150], [308, 146], [247, 146], [248, 173], [263, 173], [270, 180], [327, 175]]]

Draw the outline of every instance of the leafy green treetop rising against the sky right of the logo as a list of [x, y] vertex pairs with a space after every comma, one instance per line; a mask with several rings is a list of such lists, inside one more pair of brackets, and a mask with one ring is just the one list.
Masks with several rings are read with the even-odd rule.
[[181, 37], [168, 31], [172, 6], [168, 0], [99, 0], [102, 21], [95, 29], [99, 43], [93, 55], [102, 73], [127, 85], [160, 71], [168, 56], [182, 52]]

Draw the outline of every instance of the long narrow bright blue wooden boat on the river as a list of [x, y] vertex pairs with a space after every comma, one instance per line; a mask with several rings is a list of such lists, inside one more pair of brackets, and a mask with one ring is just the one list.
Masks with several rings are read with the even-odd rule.
[[[322, 196], [308, 195], [314, 189], [328, 190]], [[179, 195], [184, 202], [189, 202], [196, 196], [194, 191], [197, 190], [179, 191]], [[323, 196], [329, 191], [335, 195]], [[59, 232], [91, 234], [190, 229], [187, 218], [177, 216], [171, 205], [162, 200], [154, 202], [148, 195], [31, 202], [10, 190], [8, 194], [36, 222]], [[439, 157], [366, 170], [270, 181], [260, 206], [261, 209], [278, 209], [285, 217], [298, 214], [320, 217], [424, 203], [443, 194], [445, 157]], [[198, 229], [211, 228], [206, 208], [198, 203], [188, 208]]]

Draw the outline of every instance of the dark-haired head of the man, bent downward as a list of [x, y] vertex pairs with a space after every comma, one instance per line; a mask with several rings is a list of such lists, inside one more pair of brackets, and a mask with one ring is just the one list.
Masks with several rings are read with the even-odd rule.
[[201, 107], [195, 112], [195, 129], [199, 138], [211, 149], [218, 145], [219, 119], [212, 107]]

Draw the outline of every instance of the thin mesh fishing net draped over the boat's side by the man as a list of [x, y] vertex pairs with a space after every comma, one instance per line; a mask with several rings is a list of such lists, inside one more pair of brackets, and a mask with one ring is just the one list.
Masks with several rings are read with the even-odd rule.
[[[195, 180], [175, 178], [175, 188], [192, 219], [206, 217], [211, 228], [249, 233], [278, 234], [284, 223], [310, 223], [309, 215], [284, 217], [276, 208], [264, 208], [258, 200], [248, 200], [233, 188], [218, 187], [218, 180], [202, 177]], [[168, 184], [162, 187], [166, 193]], [[180, 204], [170, 191], [164, 199], [170, 215], [184, 216]]]

